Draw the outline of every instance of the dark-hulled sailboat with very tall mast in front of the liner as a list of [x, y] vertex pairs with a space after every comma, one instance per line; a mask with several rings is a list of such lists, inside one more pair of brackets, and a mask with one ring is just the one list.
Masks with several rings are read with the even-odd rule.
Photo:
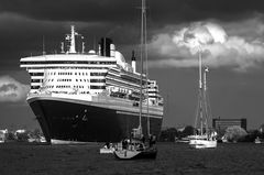
[[[118, 149], [113, 152], [114, 156], [120, 160], [134, 160], [134, 158], [156, 158], [157, 149], [153, 145], [155, 140], [150, 134], [150, 121], [147, 120], [147, 133], [148, 144], [145, 144], [145, 139], [142, 131], [142, 101], [143, 101], [143, 48], [145, 50], [146, 57], [146, 10], [145, 0], [142, 0], [142, 28], [141, 28], [141, 90], [140, 90], [140, 116], [139, 127], [132, 130], [132, 138], [123, 140], [122, 143], [118, 144]], [[147, 62], [147, 61], [146, 61]], [[147, 65], [146, 65], [147, 69]], [[146, 70], [147, 79], [147, 70]], [[147, 108], [148, 108], [148, 97]], [[148, 109], [147, 109], [148, 110]]]

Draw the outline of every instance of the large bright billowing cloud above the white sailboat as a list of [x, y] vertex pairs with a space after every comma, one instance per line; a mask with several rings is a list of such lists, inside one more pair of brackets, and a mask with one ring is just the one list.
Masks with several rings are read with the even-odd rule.
[[[244, 26], [246, 28], [246, 26]], [[250, 26], [252, 31], [252, 26]], [[240, 31], [240, 30], [238, 30]], [[241, 35], [227, 34], [222, 26], [212, 22], [196, 22], [188, 28], [161, 33], [153, 37], [150, 48], [160, 59], [151, 61], [153, 67], [198, 66], [198, 45], [202, 61], [210, 67], [232, 67], [244, 72], [264, 62], [264, 43], [258, 37], [246, 40]], [[257, 31], [252, 36], [257, 36]]]

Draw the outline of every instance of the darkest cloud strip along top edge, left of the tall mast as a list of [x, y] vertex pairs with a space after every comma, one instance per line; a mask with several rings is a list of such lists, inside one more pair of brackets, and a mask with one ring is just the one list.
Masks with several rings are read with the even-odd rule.
[[122, 0], [4, 0], [2, 12], [12, 12], [50, 21], [120, 21], [129, 20], [135, 1]]

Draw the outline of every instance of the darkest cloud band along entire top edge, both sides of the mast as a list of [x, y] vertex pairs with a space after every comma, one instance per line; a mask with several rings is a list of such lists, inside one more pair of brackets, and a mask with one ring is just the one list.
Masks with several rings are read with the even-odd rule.
[[[140, 0], [2, 0], [0, 10], [37, 20], [130, 23], [140, 4]], [[264, 11], [263, 0], [151, 0], [147, 6], [155, 20], [169, 23], [205, 18], [234, 20]]]

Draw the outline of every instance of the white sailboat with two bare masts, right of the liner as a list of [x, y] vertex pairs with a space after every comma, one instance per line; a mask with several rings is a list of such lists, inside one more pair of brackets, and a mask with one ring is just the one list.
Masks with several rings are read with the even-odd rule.
[[[217, 147], [217, 133], [209, 132], [209, 119], [210, 119], [210, 103], [208, 101], [207, 92], [207, 73], [208, 67], [201, 69], [201, 52], [199, 48], [199, 94], [198, 94], [198, 108], [196, 114], [195, 128], [198, 129], [198, 133], [195, 131], [195, 135], [189, 141], [189, 145], [195, 149], [213, 149]], [[204, 81], [202, 81], [204, 70]], [[199, 127], [198, 127], [199, 125]]]

